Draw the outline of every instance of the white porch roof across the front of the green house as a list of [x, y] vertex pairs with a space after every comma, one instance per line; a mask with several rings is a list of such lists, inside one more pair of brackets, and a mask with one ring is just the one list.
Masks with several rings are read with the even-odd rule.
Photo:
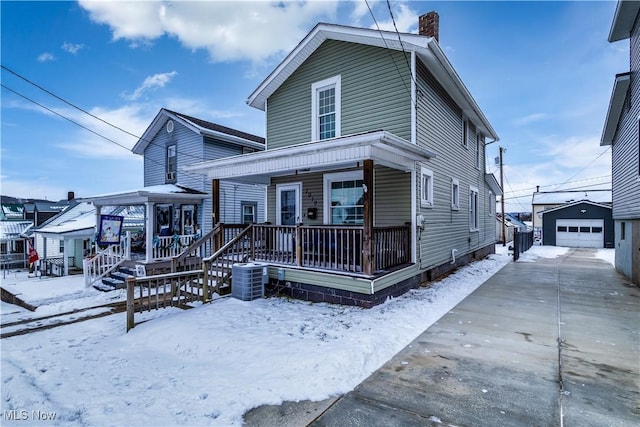
[[435, 157], [389, 132], [376, 131], [188, 165], [210, 179], [268, 184], [271, 177], [353, 167], [357, 162], [412, 171], [416, 161]]

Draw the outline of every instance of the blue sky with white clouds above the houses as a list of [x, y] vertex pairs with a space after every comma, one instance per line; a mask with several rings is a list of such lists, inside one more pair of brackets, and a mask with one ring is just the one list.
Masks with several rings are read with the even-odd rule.
[[[393, 29], [387, 3], [369, 5]], [[610, 188], [599, 141], [614, 76], [629, 70], [629, 41], [607, 42], [616, 2], [390, 5], [405, 32], [440, 14], [440, 45], [500, 136], [488, 159], [506, 148], [507, 211], [530, 210], [536, 185]], [[263, 113], [245, 101], [284, 55], [317, 22], [374, 25], [364, 0], [0, 7], [0, 193], [49, 200], [141, 187], [142, 158], [121, 146], [162, 107], [263, 136]]]

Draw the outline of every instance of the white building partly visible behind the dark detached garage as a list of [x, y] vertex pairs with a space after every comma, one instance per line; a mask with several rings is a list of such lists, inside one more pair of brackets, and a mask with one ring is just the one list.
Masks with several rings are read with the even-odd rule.
[[543, 211], [583, 200], [611, 205], [611, 190], [536, 191], [533, 193], [531, 219], [535, 234], [541, 234], [544, 228]]

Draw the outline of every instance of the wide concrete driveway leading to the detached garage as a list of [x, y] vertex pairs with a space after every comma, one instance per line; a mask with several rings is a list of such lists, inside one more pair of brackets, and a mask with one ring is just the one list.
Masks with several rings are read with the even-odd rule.
[[352, 392], [246, 424], [637, 426], [640, 289], [594, 254], [511, 263]]

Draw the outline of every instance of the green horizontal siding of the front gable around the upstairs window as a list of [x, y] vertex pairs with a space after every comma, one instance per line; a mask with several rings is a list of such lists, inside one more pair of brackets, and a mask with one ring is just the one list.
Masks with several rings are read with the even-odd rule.
[[411, 75], [404, 55], [324, 42], [268, 99], [268, 149], [312, 139], [311, 85], [337, 75], [341, 76], [341, 135], [386, 130], [411, 140]]

